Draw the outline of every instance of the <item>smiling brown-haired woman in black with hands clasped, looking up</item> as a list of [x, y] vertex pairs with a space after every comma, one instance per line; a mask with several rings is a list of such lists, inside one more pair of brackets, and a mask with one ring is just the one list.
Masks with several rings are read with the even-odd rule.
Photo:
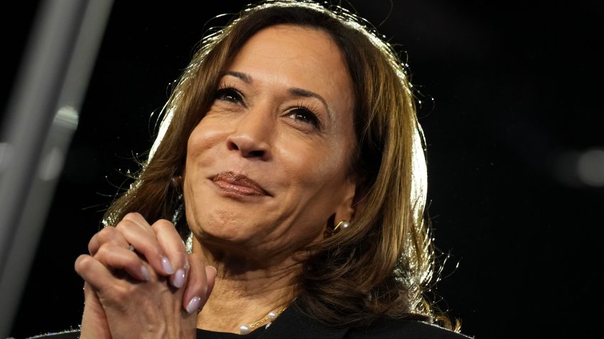
[[465, 338], [432, 325], [423, 136], [367, 23], [251, 6], [203, 40], [163, 113], [114, 227], [75, 262], [82, 328], [62, 335]]

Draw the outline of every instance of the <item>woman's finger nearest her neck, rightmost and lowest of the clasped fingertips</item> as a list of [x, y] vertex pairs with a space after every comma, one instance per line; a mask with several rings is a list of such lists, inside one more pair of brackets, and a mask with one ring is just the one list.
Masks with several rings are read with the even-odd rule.
[[205, 267], [199, 255], [189, 255], [190, 269], [187, 285], [183, 294], [183, 308], [188, 313], [198, 311], [203, 307], [214, 288], [216, 278], [215, 267]]

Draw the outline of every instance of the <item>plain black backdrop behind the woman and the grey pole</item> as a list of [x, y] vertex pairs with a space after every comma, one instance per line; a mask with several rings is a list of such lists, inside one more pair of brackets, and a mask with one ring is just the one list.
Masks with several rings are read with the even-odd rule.
[[[601, 333], [604, 1], [351, 2], [405, 53], [423, 102], [441, 305], [479, 339]], [[246, 3], [114, 3], [15, 338], [80, 323], [75, 258], [206, 21]], [[2, 23], [3, 102], [35, 9]]]

